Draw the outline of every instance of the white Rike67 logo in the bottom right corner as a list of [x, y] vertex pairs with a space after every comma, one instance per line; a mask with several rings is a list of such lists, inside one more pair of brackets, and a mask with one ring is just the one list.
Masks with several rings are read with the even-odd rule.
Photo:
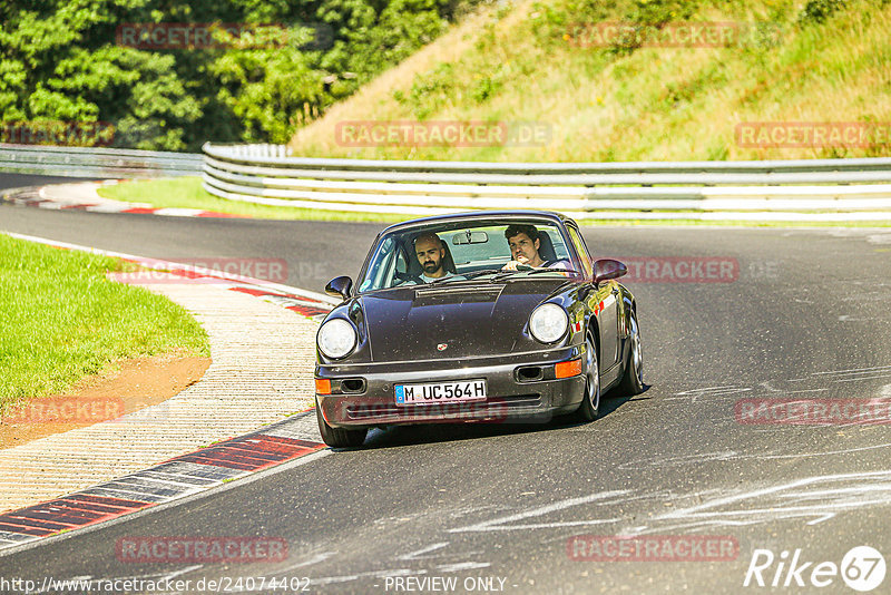
[[832, 585], [841, 576], [845, 585], [865, 593], [882, 584], [884, 573], [884, 557], [870, 546], [851, 548], [842, 557], [841, 565], [829, 560], [805, 560], [801, 549], [795, 549], [791, 558], [785, 550], [776, 556], [770, 549], [755, 549], [743, 586], [822, 588]]

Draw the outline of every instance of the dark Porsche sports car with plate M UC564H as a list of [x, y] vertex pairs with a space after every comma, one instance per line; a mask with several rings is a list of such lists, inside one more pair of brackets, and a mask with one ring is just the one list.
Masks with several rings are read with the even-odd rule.
[[332, 447], [369, 428], [598, 414], [643, 390], [636, 303], [557, 213], [427, 217], [380, 233], [316, 335], [316, 416]]

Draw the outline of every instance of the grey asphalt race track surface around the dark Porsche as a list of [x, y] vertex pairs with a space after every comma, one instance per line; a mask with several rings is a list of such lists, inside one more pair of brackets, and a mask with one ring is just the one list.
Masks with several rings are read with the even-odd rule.
[[[355, 275], [381, 227], [0, 206], [0, 231], [144, 256], [284, 259], [288, 283], [314, 291]], [[449, 592], [438, 577], [457, 578], [459, 593], [854, 593], [840, 574], [812, 572], [823, 562], [841, 566], [855, 546], [891, 554], [889, 426], [751, 425], [735, 407], [891, 398], [891, 231], [597, 227], [585, 235], [598, 255], [645, 259], [663, 273], [665, 262], [678, 262], [665, 259], [735, 263], [724, 282], [627, 283], [644, 338], [644, 394], [606, 401], [587, 425], [375, 431], [362, 449], [326, 450], [2, 556], [0, 577], [173, 576], [192, 581], [183, 593], [209, 592], [196, 591], [202, 578], [235, 586], [261, 576], [295, 578], [290, 586], [312, 593]], [[586, 535], [606, 538], [605, 554], [618, 535], [660, 548], [674, 539], [678, 554], [699, 536], [705, 558], [707, 536], [738, 549], [728, 559], [672, 562], [666, 549], [648, 550], [655, 560], [572, 559], [594, 554], [586, 538], [567, 548]], [[134, 536], [267, 536], [286, 539], [288, 555], [227, 566], [119, 560], [115, 544]], [[797, 567], [812, 564], [790, 576], [799, 549]], [[775, 556], [771, 565], [762, 550]], [[768, 586], [753, 573], [744, 587], [755, 555]], [[871, 567], [861, 558], [858, 567]], [[844, 568], [850, 579], [856, 568], [849, 560]], [[256, 581], [242, 591], [288, 592]], [[875, 593], [889, 585], [891, 577]]]

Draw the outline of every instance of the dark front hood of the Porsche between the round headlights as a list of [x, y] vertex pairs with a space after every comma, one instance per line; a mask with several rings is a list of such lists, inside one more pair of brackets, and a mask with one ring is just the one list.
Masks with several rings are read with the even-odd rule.
[[[510, 353], [532, 310], [564, 282], [413, 285], [362, 296], [373, 361]], [[442, 345], [447, 345], [442, 349]]]

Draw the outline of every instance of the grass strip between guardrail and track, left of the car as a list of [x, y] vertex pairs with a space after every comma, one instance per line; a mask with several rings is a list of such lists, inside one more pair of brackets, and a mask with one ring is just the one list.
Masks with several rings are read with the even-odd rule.
[[124, 182], [99, 188], [104, 198], [127, 203], [147, 203], [158, 208], [200, 208], [231, 215], [266, 220], [303, 221], [358, 221], [395, 223], [414, 218], [415, 215], [388, 215], [374, 213], [343, 213], [339, 211], [316, 211], [290, 206], [266, 206], [252, 203], [227, 201], [202, 188], [199, 177], [186, 176], [136, 182]]

